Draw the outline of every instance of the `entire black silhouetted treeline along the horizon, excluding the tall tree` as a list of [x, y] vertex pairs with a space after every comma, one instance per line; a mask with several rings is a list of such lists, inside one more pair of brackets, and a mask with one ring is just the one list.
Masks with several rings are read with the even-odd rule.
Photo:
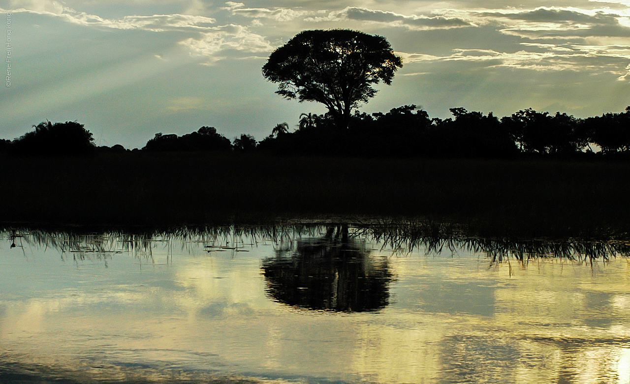
[[[302, 114], [290, 132], [287, 123], [257, 142], [247, 134], [229, 140], [214, 127], [178, 136], [156, 133], [143, 152], [233, 151], [274, 154], [404, 157], [630, 157], [630, 107], [585, 119], [532, 109], [498, 118], [452, 108], [452, 118], [430, 118], [414, 105], [387, 113], [355, 113], [340, 129], [329, 115]], [[40, 123], [33, 132], [0, 140], [0, 151], [18, 155], [126, 152], [122, 145], [96, 147], [92, 134], [76, 121]], [[134, 149], [134, 151], [139, 151]], [[595, 154], [595, 152], [599, 152]]]

